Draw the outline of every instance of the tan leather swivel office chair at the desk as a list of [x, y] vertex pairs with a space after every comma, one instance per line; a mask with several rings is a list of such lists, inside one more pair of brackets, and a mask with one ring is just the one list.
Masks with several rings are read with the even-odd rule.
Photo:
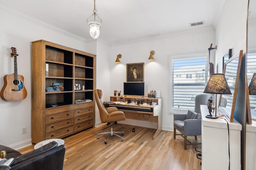
[[[101, 98], [102, 98], [102, 90], [96, 89], [94, 90], [96, 103], [98, 106], [98, 109], [100, 111], [100, 120], [102, 123], [108, 123], [110, 125], [110, 131], [104, 132], [104, 133], [98, 133], [97, 139], [99, 139], [99, 135], [107, 134], [107, 137], [105, 138], [105, 144], [107, 144], [107, 139], [111, 135], [116, 135], [121, 138], [121, 141], [124, 141], [124, 138], [122, 137], [124, 135], [124, 131], [113, 131], [113, 124], [117, 124], [116, 121], [122, 121], [125, 120], [124, 112], [118, 111], [117, 107], [104, 107], [102, 104]], [[117, 133], [121, 133], [121, 135], [118, 135]]]

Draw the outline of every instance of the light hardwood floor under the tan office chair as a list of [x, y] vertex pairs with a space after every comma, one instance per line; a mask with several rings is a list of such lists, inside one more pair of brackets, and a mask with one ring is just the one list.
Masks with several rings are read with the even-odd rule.
[[[184, 139], [180, 135], [173, 139], [171, 131], [162, 130], [152, 140], [156, 129], [118, 124], [114, 130], [124, 131], [124, 141], [112, 136], [105, 145], [106, 135], [100, 139], [96, 136], [108, 129], [91, 128], [64, 138], [64, 170], [201, 170], [195, 151], [195, 147], [201, 150], [201, 145], [188, 145], [184, 150]], [[32, 150], [34, 145], [18, 151], [24, 154]]]

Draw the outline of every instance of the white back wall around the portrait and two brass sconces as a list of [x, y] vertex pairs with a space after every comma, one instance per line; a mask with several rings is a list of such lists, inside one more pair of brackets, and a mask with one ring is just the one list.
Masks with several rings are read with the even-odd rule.
[[[123, 82], [126, 82], [127, 63], [144, 63], [145, 91], [147, 93], [150, 90], [160, 90], [160, 97], [163, 99], [162, 128], [173, 130], [173, 115], [168, 113], [169, 56], [208, 52], [210, 44], [214, 44], [214, 39], [215, 31], [204, 29], [110, 47], [111, 95], [114, 90], [123, 90]], [[148, 61], [151, 50], [155, 51], [154, 61]], [[120, 64], [115, 63], [118, 54], [122, 55]]]

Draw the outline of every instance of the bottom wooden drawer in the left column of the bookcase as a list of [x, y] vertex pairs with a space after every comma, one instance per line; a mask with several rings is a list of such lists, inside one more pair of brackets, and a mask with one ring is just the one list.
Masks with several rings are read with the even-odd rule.
[[53, 139], [53, 138], [62, 138], [66, 137], [74, 132], [74, 125], [65, 127], [64, 129], [60, 129], [57, 131], [52, 131], [49, 133], [46, 133], [46, 139]]

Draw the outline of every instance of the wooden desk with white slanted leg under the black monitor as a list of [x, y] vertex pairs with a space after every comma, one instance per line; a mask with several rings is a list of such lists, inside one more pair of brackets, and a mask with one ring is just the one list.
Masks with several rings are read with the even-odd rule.
[[[116, 96], [114, 96], [116, 97]], [[120, 96], [118, 96], [120, 97]], [[125, 96], [123, 97], [123, 101], [128, 100], [131, 97]], [[137, 97], [138, 98], [138, 97]], [[112, 98], [110, 97], [110, 100]], [[150, 100], [150, 98], [144, 98], [146, 100]], [[152, 121], [157, 123], [157, 129], [155, 134], [153, 135], [152, 139], [155, 139], [156, 136], [160, 133], [162, 130], [162, 98], [154, 98], [154, 101], [156, 101], [156, 105], [122, 105], [122, 104], [113, 104], [113, 103], [104, 103], [105, 107], [114, 106], [117, 107], [118, 110], [123, 111], [125, 114], [125, 117], [128, 119], [137, 119], [137, 120], [143, 120], [143, 121]]]

